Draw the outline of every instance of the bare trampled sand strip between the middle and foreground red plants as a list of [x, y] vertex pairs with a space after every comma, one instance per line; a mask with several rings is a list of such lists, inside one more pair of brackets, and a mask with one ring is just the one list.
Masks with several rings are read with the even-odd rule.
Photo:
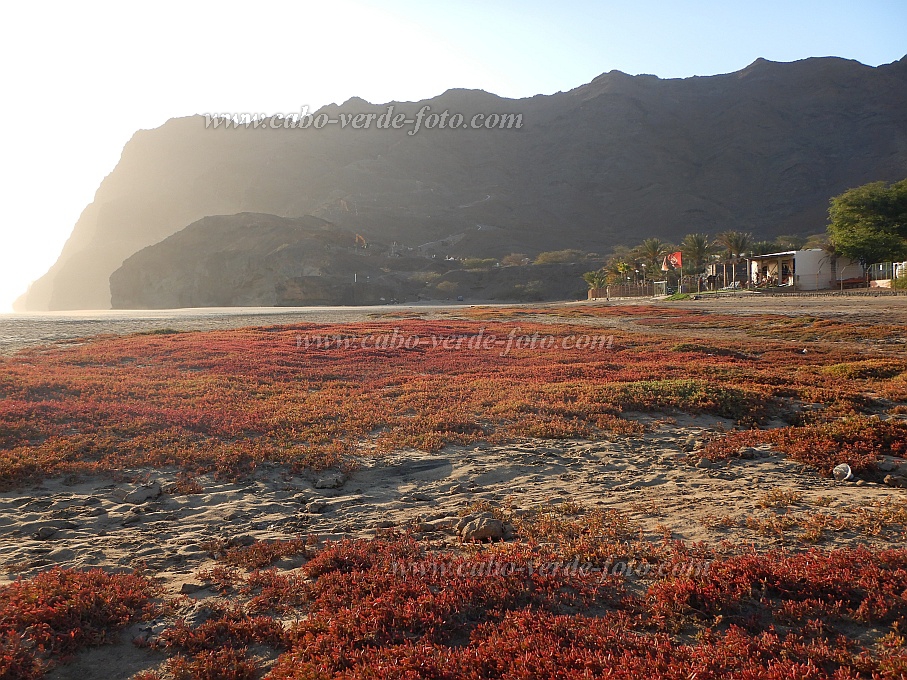
[[[134, 470], [132, 481], [53, 479], [0, 494], [0, 549], [5, 579], [51, 566], [143, 568], [174, 593], [198, 569], [212, 566], [217, 546], [243, 540], [315, 535], [320, 541], [371, 538], [390, 527], [458, 542], [448, 527], [477, 503], [508, 512], [560, 506], [614, 508], [658, 540], [663, 527], [684, 541], [722, 539], [758, 548], [784, 544], [742, 526], [767, 517], [759, 503], [773, 489], [798, 492], [793, 510], [846, 515], [854, 505], [891, 502], [904, 492], [878, 484], [856, 486], [820, 477], [763, 447], [750, 460], [696, 467], [683, 451], [690, 435], [708, 436], [719, 419], [655, 419], [630, 414], [650, 431], [599, 441], [528, 439], [509, 446], [449, 446], [435, 453], [398, 451], [362, 458], [338, 488], [316, 488], [332, 471], [303, 475], [260, 468], [240, 482], [197, 478], [200, 493], [181, 494], [173, 471]], [[158, 486], [155, 486], [158, 483]], [[127, 498], [137, 493], [140, 498]], [[143, 499], [141, 496], [149, 495]], [[710, 526], [733, 516], [740, 525]], [[792, 534], [793, 535], [793, 534]], [[826, 545], [865, 541], [842, 532]], [[884, 537], [880, 539], [885, 543]]]

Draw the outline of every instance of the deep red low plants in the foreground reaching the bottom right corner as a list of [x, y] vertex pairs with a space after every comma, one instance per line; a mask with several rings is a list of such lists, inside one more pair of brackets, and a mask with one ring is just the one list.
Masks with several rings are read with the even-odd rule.
[[[618, 546], [619, 548], [619, 546]], [[253, 572], [237, 603], [156, 646], [176, 678], [898, 678], [907, 552], [865, 548], [565, 562], [542, 547], [331, 544], [300, 574]], [[262, 607], [268, 589], [275, 627]], [[243, 604], [248, 598], [257, 606]], [[249, 649], [268, 647], [267, 669]], [[270, 663], [268, 663], [270, 665]], [[144, 679], [164, 677], [157, 672]]]

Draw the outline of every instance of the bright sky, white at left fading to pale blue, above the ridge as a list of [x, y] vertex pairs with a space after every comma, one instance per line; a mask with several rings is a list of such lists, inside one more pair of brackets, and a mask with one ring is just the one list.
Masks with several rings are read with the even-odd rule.
[[0, 312], [53, 264], [133, 132], [452, 87], [507, 97], [612, 69], [662, 78], [757, 57], [907, 53], [904, 0], [156, 0], [0, 9]]

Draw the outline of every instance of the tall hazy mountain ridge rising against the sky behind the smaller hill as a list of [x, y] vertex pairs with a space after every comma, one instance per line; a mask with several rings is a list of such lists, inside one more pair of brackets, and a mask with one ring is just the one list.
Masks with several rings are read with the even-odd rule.
[[[20, 307], [109, 307], [124, 260], [210, 215], [312, 215], [442, 257], [606, 252], [691, 231], [821, 231], [830, 196], [907, 176], [907, 57], [877, 68], [760, 59], [678, 80], [612, 71], [550, 96], [450, 90], [394, 104], [410, 118], [425, 105], [523, 124], [410, 135], [206, 129], [196, 116], [140, 131]], [[388, 106], [351, 99], [320, 113]]]

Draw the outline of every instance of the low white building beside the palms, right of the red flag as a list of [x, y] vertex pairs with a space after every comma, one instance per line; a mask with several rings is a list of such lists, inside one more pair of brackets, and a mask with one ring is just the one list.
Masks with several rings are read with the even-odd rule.
[[753, 255], [749, 261], [750, 281], [758, 287], [825, 290], [863, 276], [859, 262], [841, 256], [834, 259], [821, 248]]

